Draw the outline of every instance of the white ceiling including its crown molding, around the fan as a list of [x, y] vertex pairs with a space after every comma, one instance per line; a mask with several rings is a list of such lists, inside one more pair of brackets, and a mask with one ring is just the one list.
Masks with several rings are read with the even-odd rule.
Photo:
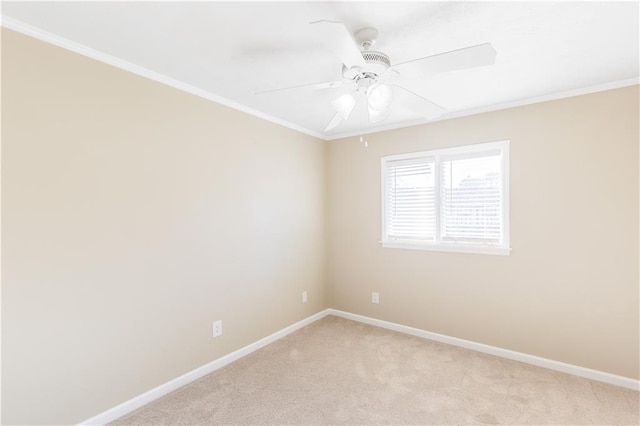
[[[489, 42], [493, 66], [408, 86], [442, 118], [638, 82], [638, 2], [3, 2], [2, 24], [325, 139], [425, 119], [394, 105], [377, 127], [323, 129], [337, 89], [261, 90], [341, 78], [308, 24], [374, 26], [392, 64]], [[339, 94], [339, 93], [338, 93]]]

